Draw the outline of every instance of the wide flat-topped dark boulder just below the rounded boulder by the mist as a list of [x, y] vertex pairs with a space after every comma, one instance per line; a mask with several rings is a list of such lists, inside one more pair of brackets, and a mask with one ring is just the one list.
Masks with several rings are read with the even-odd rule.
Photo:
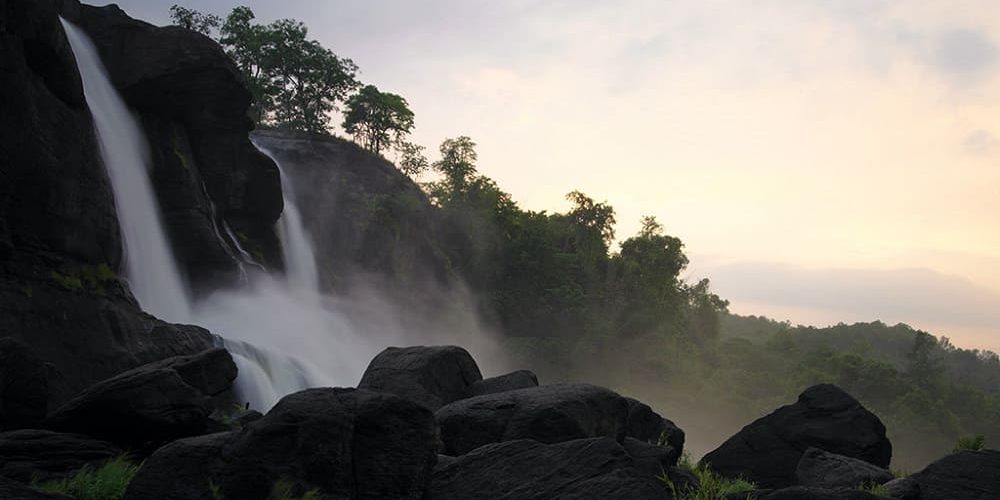
[[463, 399], [437, 411], [444, 453], [464, 455], [480, 446], [516, 439], [560, 443], [625, 438], [625, 398], [588, 384], [543, 385]]

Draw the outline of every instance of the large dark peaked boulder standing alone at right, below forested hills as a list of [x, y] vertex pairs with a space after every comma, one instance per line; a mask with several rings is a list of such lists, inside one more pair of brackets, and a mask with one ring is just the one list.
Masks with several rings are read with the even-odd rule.
[[795, 484], [795, 469], [809, 447], [887, 467], [892, 445], [885, 426], [836, 386], [806, 389], [799, 400], [744, 427], [702, 459], [726, 477], [765, 488]]

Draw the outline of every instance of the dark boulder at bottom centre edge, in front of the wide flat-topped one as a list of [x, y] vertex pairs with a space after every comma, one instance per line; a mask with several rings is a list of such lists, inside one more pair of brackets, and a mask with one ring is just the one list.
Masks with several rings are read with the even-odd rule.
[[614, 439], [495, 443], [434, 469], [428, 500], [666, 500]]

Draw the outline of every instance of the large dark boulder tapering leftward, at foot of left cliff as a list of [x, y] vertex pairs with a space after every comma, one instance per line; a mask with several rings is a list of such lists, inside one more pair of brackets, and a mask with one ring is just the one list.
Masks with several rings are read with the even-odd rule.
[[236, 378], [223, 349], [162, 360], [99, 382], [56, 409], [46, 427], [147, 448], [204, 433], [209, 396]]

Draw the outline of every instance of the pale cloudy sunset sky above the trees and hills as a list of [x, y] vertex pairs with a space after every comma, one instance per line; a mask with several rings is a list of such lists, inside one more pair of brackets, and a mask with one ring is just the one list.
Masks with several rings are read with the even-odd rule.
[[[167, 24], [174, 3], [122, 0]], [[655, 215], [730, 309], [1000, 352], [1000, 3], [245, 0], [477, 143], [522, 208]]]

